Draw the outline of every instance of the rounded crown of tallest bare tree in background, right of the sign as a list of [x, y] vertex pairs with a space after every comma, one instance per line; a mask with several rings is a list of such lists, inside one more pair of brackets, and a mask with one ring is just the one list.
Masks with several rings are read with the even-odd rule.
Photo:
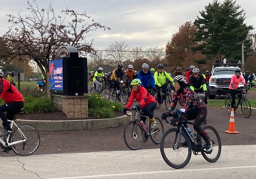
[[108, 59], [112, 60], [113, 62], [123, 63], [128, 58], [128, 52], [130, 48], [129, 45], [126, 44], [124, 41], [115, 41], [108, 45], [106, 48], [106, 55]]

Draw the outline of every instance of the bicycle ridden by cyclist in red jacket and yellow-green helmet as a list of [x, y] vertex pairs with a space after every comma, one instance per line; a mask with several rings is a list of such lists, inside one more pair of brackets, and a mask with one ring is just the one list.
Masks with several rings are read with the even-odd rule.
[[[126, 146], [131, 150], [138, 150], [142, 143], [146, 143], [146, 141], [148, 141], [148, 137], [151, 138], [153, 143], [160, 144], [161, 137], [164, 133], [162, 121], [159, 118], [155, 118], [156, 127], [151, 129], [151, 121], [149, 120], [149, 117], [144, 116], [143, 113], [138, 111], [136, 105], [128, 111], [134, 111], [135, 120], [130, 121], [124, 128], [123, 136]], [[140, 113], [139, 116], [146, 117], [145, 128], [138, 119], [138, 113]], [[125, 114], [127, 116], [131, 116], [127, 113]], [[134, 143], [134, 145], [132, 145], [132, 143]]]

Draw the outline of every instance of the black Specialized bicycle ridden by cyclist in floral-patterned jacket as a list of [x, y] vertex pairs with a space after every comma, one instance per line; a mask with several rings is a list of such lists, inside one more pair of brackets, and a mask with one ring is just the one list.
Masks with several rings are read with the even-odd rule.
[[[171, 123], [167, 121], [167, 117], [173, 117]], [[192, 152], [194, 155], [200, 155], [198, 154], [200, 152], [204, 159], [211, 163], [220, 158], [221, 142], [215, 128], [212, 126], [202, 127], [202, 130], [206, 132], [212, 142], [212, 152], [207, 152], [204, 139], [198, 133], [191, 136], [187, 130], [187, 124], [193, 125], [194, 123], [183, 121], [177, 109], [170, 114], [163, 113], [161, 118], [168, 125], [171, 124], [177, 127], [168, 129], [160, 142], [161, 155], [170, 167], [176, 169], [185, 167], [191, 158]], [[174, 160], [171, 159], [172, 157], [174, 157]], [[178, 160], [182, 161], [179, 162]]]

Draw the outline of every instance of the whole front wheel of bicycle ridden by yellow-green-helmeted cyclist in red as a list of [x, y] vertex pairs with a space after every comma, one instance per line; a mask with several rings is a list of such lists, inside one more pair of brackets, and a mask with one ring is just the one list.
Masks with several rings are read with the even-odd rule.
[[124, 142], [131, 150], [138, 150], [143, 142], [143, 132], [136, 121], [130, 121], [124, 128]]

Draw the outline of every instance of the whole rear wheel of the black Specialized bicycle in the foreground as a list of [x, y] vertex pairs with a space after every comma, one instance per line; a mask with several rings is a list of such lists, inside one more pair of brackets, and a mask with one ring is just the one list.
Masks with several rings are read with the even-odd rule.
[[[205, 149], [201, 153], [206, 161], [211, 163], [216, 162], [220, 158], [221, 153], [220, 136], [216, 129], [212, 126], [204, 126], [202, 127], [202, 130], [204, 130], [207, 133], [207, 136], [210, 137], [210, 140], [212, 141], [212, 153], [205, 153]], [[201, 142], [202, 146], [205, 145], [205, 141], [200, 135], [198, 141]]]

